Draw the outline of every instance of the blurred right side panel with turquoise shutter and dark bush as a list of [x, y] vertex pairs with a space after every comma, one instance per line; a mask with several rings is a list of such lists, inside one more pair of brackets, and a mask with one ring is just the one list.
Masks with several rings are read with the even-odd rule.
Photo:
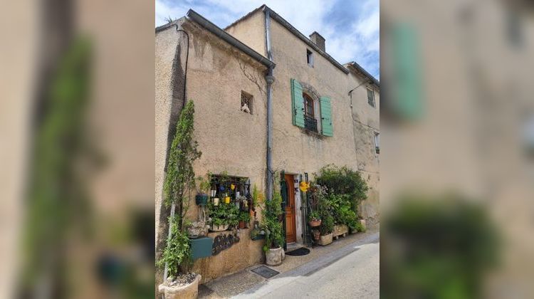
[[384, 0], [381, 28], [381, 295], [532, 298], [532, 2]]

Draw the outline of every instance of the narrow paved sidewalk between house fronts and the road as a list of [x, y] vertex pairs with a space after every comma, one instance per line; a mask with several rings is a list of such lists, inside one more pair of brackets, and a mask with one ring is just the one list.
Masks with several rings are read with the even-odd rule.
[[[255, 297], [268, 292], [273, 288], [291, 281], [306, 273], [319, 271], [326, 266], [335, 263], [357, 250], [357, 246], [379, 240], [379, 226], [372, 227], [365, 233], [352, 234], [345, 238], [339, 238], [328, 246], [316, 246], [310, 248], [306, 256], [287, 256], [280, 266], [269, 268], [280, 272], [273, 278], [266, 279], [253, 273], [251, 270], [261, 265], [251, 266], [244, 271], [211, 280], [204, 285], [199, 285], [199, 298], [230, 298], [241, 294], [242, 298], [248, 298], [250, 290], [256, 291]], [[248, 295], [246, 294], [248, 293]]]

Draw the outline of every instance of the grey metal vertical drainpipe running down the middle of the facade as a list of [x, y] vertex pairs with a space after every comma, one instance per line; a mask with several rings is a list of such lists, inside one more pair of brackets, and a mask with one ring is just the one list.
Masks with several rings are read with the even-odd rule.
[[[265, 10], [265, 38], [267, 46], [267, 58], [273, 61], [273, 54], [271, 53], [271, 15], [268, 9]], [[273, 148], [273, 67], [269, 67], [268, 73], [265, 76], [267, 82], [267, 200], [273, 199], [273, 165], [271, 150]]]

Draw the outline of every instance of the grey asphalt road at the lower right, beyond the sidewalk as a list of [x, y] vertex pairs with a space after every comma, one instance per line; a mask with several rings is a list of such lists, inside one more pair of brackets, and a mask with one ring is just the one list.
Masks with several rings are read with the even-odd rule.
[[308, 263], [241, 298], [379, 298], [379, 234]]

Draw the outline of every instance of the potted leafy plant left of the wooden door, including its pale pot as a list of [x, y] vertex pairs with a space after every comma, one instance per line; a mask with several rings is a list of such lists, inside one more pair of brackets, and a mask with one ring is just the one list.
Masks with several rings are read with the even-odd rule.
[[269, 266], [276, 266], [282, 263], [285, 254], [283, 252], [283, 230], [282, 223], [278, 218], [282, 215], [282, 196], [280, 192], [273, 194], [273, 199], [265, 201], [263, 209], [263, 229], [266, 231], [265, 262]]

